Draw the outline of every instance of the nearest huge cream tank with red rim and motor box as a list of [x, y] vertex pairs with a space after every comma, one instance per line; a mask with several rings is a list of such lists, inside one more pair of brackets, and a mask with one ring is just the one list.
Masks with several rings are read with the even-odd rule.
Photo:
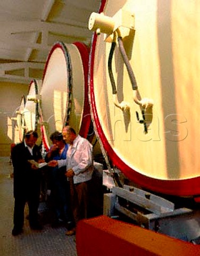
[[[116, 167], [145, 188], [200, 194], [200, 1], [107, 0], [99, 13], [89, 21], [96, 31], [89, 90], [104, 149]], [[115, 37], [113, 93], [108, 60]], [[151, 107], [138, 104], [136, 94]]]

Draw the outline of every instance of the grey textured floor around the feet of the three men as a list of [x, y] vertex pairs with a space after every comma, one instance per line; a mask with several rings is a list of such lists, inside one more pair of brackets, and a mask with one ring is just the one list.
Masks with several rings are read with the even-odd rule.
[[[10, 158], [0, 157], [0, 255], [77, 256], [75, 236], [66, 236], [65, 227], [52, 228], [48, 221], [44, 223], [42, 231], [35, 231], [29, 228], [26, 220], [23, 233], [12, 236], [14, 199], [13, 179], [10, 174]], [[44, 203], [40, 204], [39, 213], [44, 215]]]

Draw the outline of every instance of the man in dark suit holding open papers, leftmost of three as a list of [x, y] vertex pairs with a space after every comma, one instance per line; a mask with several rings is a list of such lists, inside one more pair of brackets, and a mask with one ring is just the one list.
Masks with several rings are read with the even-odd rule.
[[35, 145], [38, 134], [29, 131], [25, 134], [24, 141], [16, 145], [11, 154], [14, 169], [14, 228], [12, 235], [22, 233], [24, 223], [24, 207], [26, 202], [29, 207], [29, 225], [31, 229], [42, 229], [38, 221], [38, 206], [40, 197], [41, 170], [29, 160], [38, 163], [44, 162], [40, 149]]

